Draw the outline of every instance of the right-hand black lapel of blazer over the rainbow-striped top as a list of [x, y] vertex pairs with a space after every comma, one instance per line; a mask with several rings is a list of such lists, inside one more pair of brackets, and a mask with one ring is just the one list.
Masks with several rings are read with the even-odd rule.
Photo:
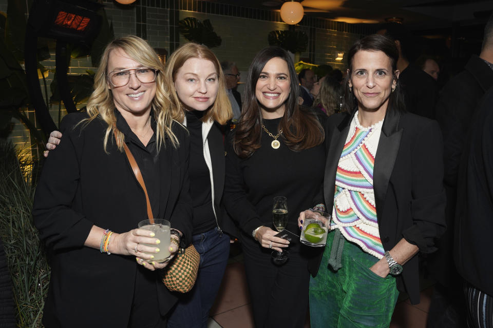
[[399, 129], [401, 114], [387, 111], [382, 133], [378, 140], [375, 162], [373, 166], [373, 191], [375, 193], [376, 217], [382, 224], [382, 211], [389, 186], [390, 175], [401, 145], [403, 129]]

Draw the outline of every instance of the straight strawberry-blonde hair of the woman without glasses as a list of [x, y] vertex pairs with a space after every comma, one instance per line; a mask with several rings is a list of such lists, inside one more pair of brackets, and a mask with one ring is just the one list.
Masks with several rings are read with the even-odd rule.
[[166, 61], [166, 71], [164, 74], [164, 81], [167, 86], [169, 86], [169, 94], [170, 94], [170, 110], [174, 116], [173, 118], [178, 120], [179, 122], [183, 122], [184, 120], [184, 108], [181, 104], [180, 98], [176, 93], [175, 89], [175, 78], [178, 70], [185, 64], [185, 61], [189, 58], [201, 58], [210, 60], [214, 67], [216, 68], [216, 72], [218, 75], [219, 88], [217, 91], [217, 97], [214, 101], [214, 105], [212, 105], [211, 109], [208, 109], [204, 116], [202, 117], [202, 121], [206, 122], [208, 120], [215, 120], [221, 125], [226, 124], [227, 120], [233, 117], [233, 111], [231, 110], [230, 99], [227, 97], [226, 93], [226, 79], [222, 72], [221, 65], [219, 64], [219, 60], [216, 55], [207, 47], [196, 44], [196, 43], [186, 43], [180, 48], [178, 48]]

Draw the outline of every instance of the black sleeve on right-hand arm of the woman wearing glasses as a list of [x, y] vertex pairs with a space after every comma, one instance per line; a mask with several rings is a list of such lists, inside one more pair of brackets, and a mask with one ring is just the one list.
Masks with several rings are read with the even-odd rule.
[[[181, 174], [181, 188], [179, 188], [179, 196], [173, 213], [169, 219], [171, 227], [178, 229], [183, 233], [180, 240], [181, 247], [187, 247], [192, 242], [193, 232], [193, 205], [190, 196], [190, 180], [188, 178], [188, 158], [190, 154], [190, 140], [185, 133], [185, 129], [175, 124], [175, 133], [180, 141], [178, 148], [179, 171]], [[171, 146], [168, 146], [171, 147]]]

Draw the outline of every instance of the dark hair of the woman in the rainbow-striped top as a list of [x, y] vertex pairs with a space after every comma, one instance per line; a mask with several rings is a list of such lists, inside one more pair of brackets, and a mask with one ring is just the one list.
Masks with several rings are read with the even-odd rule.
[[[394, 41], [385, 35], [372, 34], [357, 40], [348, 52], [348, 67], [349, 73], [344, 81], [344, 100], [346, 111], [354, 114], [358, 108], [356, 96], [349, 90], [349, 80], [353, 73], [353, 57], [358, 51], [382, 51], [390, 58], [392, 72], [397, 70], [397, 59], [399, 59], [399, 50], [395, 47]], [[390, 93], [389, 105], [387, 110], [405, 112], [406, 105], [404, 104], [404, 95], [402, 93], [399, 79], [394, 73], [394, 79], [397, 81], [395, 90]]]

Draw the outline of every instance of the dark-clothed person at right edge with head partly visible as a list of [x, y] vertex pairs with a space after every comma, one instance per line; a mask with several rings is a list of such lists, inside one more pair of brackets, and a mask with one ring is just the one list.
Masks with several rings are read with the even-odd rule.
[[[456, 215], [456, 204], [461, 201], [457, 198], [457, 192], [460, 189], [458, 188], [458, 173], [461, 156], [467, 146], [465, 140], [470, 131], [476, 131], [478, 128], [476, 125], [471, 125], [473, 116], [480, 99], [493, 86], [492, 17], [489, 18], [484, 29], [480, 55], [472, 55], [464, 70], [448, 81], [442, 89], [435, 111], [444, 140], [447, 231], [437, 242], [438, 251], [428, 256], [428, 268], [437, 280], [428, 315], [429, 328], [462, 327], [464, 325], [465, 305], [462, 301], [462, 277], [459, 276], [453, 262], [454, 255], [457, 256], [453, 250], [453, 227], [455, 218], [459, 215], [459, 213]], [[493, 214], [489, 213], [489, 215]], [[459, 273], [461, 273], [460, 265]], [[461, 275], [468, 280], [467, 276], [462, 273]]]

